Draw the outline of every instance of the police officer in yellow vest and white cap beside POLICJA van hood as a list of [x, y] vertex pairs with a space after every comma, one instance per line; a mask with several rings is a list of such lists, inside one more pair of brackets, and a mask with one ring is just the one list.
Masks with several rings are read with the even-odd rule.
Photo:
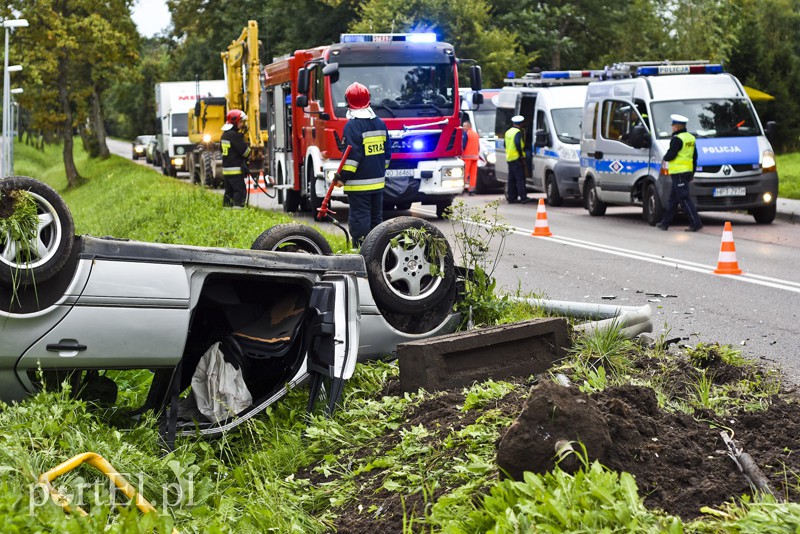
[[664, 218], [656, 226], [661, 230], [667, 230], [678, 210], [678, 204], [680, 204], [692, 220], [686, 231], [696, 232], [703, 227], [703, 221], [700, 220], [697, 208], [689, 196], [689, 182], [694, 178], [694, 170], [697, 168], [695, 137], [686, 131], [686, 123], [689, 122], [689, 119], [683, 115], [671, 115], [670, 118], [672, 119], [672, 140], [669, 143], [669, 150], [664, 154], [664, 161], [668, 162], [672, 190]]

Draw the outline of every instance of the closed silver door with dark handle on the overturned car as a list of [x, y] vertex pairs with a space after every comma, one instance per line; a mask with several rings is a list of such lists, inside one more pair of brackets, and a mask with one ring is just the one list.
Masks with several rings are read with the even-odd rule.
[[17, 362], [31, 369], [146, 369], [175, 366], [189, 325], [189, 282], [181, 264], [95, 258], [69, 313]]

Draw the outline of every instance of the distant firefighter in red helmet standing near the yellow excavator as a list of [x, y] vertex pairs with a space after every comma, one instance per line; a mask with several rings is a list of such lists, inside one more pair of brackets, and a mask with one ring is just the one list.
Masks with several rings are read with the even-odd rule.
[[250, 147], [244, 140], [247, 130], [247, 114], [240, 109], [232, 109], [225, 116], [222, 126], [222, 176], [225, 182], [225, 193], [222, 205], [241, 208], [247, 201], [247, 187], [244, 176], [247, 174], [247, 156]]

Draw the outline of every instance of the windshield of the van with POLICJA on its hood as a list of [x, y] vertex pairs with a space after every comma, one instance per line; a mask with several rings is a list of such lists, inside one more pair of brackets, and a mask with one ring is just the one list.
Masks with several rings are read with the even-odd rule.
[[672, 136], [673, 113], [687, 117], [686, 129], [697, 137], [762, 135], [753, 107], [744, 98], [653, 102], [650, 107], [658, 139]]

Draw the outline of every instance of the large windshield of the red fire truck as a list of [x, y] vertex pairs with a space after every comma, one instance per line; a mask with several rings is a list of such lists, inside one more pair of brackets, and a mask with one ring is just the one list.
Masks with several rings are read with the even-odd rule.
[[344, 91], [353, 82], [369, 88], [370, 104], [381, 118], [442, 117], [455, 112], [453, 67], [440, 65], [340, 65], [331, 83], [337, 117], [347, 113]]

